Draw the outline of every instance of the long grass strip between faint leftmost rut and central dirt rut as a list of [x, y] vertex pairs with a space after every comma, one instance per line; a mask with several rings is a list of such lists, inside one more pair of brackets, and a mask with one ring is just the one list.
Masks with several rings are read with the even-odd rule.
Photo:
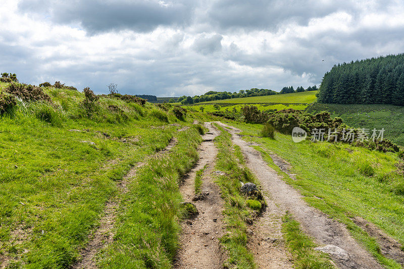
[[101, 268], [170, 268], [184, 214], [178, 184], [197, 160], [201, 139], [194, 128], [177, 135], [178, 144], [151, 158], [122, 195], [114, 243], [100, 253]]

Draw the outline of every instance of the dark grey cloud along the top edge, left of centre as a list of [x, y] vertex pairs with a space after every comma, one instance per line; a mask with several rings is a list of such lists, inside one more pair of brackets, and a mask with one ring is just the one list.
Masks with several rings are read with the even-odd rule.
[[148, 32], [160, 25], [187, 25], [193, 8], [194, 2], [188, 0], [174, 3], [148, 0], [23, 0], [19, 3], [23, 12], [50, 16], [55, 23], [78, 23], [90, 34], [122, 29]]

